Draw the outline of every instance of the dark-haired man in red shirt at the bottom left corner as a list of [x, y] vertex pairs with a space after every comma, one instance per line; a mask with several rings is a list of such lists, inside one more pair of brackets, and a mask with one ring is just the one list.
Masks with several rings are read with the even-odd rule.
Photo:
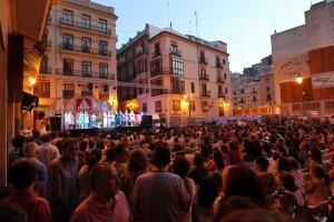
[[[7, 200], [19, 204], [28, 215], [28, 222], [51, 222], [50, 206], [46, 199], [33, 192], [37, 184], [37, 168], [30, 160], [17, 160], [9, 169], [9, 181], [16, 191]], [[3, 218], [0, 219], [1, 221]]]

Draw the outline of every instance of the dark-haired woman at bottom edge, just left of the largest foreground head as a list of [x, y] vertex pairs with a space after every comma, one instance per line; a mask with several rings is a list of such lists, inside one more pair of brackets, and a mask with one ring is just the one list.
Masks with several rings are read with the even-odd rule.
[[206, 175], [202, 179], [197, 193], [198, 221], [212, 221], [214, 218], [214, 202], [218, 198], [218, 185], [216, 180]]

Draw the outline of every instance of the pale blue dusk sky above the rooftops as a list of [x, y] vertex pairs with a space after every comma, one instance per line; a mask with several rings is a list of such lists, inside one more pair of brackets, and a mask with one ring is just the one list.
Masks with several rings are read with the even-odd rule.
[[[117, 49], [149, 23], [183, 34], [227, 43], [232, 72], [258, 63], [272, 53], [271, 34], [305, 23], [310, 0], [92, 0], [111, 6], [118, 16]], [[321, 0], [313, 0], [312, 3]], [[169, 7], [168, 7], [169, 3]], [[169, 8], [169, 9], [168, 9]]]

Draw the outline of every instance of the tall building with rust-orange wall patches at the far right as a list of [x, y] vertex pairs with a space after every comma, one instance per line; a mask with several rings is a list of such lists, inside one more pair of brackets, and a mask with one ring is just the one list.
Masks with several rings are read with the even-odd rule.
[[334, 112], [333, 20], [334, 1], [324, 0], [305, 12], [305, 24], [272, 36], [275, 113]]

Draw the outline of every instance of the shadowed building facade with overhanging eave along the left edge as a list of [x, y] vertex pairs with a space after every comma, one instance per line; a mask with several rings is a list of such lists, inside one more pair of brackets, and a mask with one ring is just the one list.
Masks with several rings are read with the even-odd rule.
[[51, 0], [0, 0], [0, 186], [7, 185], [11, 139], [21, 129], [23, 73], [31, 71], [24, 65], [29, 63], [27, 54], [45, 39], [51, 3]]

